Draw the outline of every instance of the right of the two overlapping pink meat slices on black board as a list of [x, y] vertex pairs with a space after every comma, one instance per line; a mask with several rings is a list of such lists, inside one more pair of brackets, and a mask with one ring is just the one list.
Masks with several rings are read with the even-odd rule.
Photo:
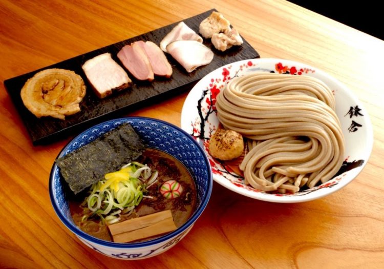
[[135, 43], [138, 43], [144, 49], [155, 75], [166, 78], [172, 75], [172, 66], [170, 66], [167, 57], [159, 46], [151, 41], [137, 41]]

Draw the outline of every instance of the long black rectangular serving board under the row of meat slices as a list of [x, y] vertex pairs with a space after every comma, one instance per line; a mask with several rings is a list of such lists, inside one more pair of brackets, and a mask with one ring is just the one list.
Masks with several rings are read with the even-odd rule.
[[[199, 25], [201, 21], [208, 17], [212, 11], [217, 10], [208, 10], [199, 15], [184, 19], [183, 22], [196, 33], [199, 33]], [[244, 38], [242, 46], [233, 46], [225, 52], [216, 50], [210, 40], [207, 39], [204, 40], [204, 45], [209, 47], [215, 54], [214, 59], [209, 65], [199, 67], [195, 71], [187, 73], [184, 68], [172, 58], [172, 56], [166, 54], [169, 63], [173, 67], [173, 74], [171, 78], [165, 79], [155, 77], [155, 80], [152, 82], [138, 81], [129, 72], [127, 72], [133, 81], [131, 88], [114, 93], [104, 99], [99, 99], [94, 94], [86, 75], [81, 69], [81, 66], [86, 60], [99, 54], [110, 52], [115, 61], [121, 65], [120, 60], [116, 55], [123, 46], [131, 44], [137, 40], [150, 40], [159, 45], [163, 37], [178, 23], [179, 22], [170, 24], [104, 48], [61, 61], [60, 63], [5, 80], [4, 86], [8, 91], [8, 94], [10, 95], [17, 111], [19, 112], [20, 117], [23, 119], [25, 126], [27, 127], [32, 143], [34, 145], [49, 143], [54, 141], [54, 139], [75, 134], [79, 130], [89, 128], [92, 125], [112, 118], [113, 116], [117, 116], [119, 114], [122, 115], [123, 112], [126, 113], [140, 107], [155, 104], [156, 102], [164, 100], [164, 98], [178, 94], [184, 90], [190, 90], [199, 79], [223, 65], [239, 60], [260, 57], [258, 52], [255, 51]], [[52, 117], [37, 118], [24, 106], [22, 98], [20, 97], [20, 91], [25, 82], [35, 73], [48, 68], [73, 70], [76, 74], [79, 74], [83, 78], [87, 86], [87, 94], [80, 103], [81, 111], [72, 116], [67, 116], [65, 120], [55, 119]]]

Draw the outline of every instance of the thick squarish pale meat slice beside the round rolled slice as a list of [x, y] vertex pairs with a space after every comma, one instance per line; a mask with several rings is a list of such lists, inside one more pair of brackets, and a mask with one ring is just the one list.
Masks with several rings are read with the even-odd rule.
[[103, 53], [87, 60], [82, 65], [82, 69], [99, 98], [131, 86], [131, 79], [124, 69], [112, 59], [110, 53]]

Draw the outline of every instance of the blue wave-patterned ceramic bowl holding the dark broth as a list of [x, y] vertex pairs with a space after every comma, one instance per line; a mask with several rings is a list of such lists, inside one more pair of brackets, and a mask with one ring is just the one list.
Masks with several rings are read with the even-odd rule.
[[190, 231], [208, 203], [212, 191], [212, 172], [203, 149], [194, 138], [170, 123], [145, 117], [118, 118], [91, 127], [70, 141], [58, 157], [90, 143], [124, 122], [131, 124], [146, 147], [156, 148], [174, 156], [185, 165], [193, 176], [197, 187], [197, 209], [186, 223], [172, 233], [145, 242], [114, 243], [104, 241], [82, 232], [74, 223], [66, 193], [62, 187], [64, 181], [56, 164], [52, 167], [49, 192], [53, 208], [59, 219], [84, 244], [113, 258], [144, 259], [170, 249]]

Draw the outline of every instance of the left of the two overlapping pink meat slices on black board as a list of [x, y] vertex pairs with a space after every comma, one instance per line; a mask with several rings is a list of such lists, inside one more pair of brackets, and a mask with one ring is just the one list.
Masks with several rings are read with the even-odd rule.
[[144, 49], [139, 42], [121, 48], [117, 53], [124, 67], [139, 80], [154, 80], [154, 72]]

